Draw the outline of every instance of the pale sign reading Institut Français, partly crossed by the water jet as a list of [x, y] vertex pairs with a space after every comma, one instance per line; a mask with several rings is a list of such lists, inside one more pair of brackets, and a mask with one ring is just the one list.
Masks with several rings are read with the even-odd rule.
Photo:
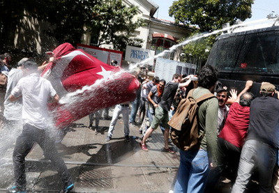
[[153, 65], [154, 55], [155, 51], [153, 50], [127, 45], [125, 60], [133, 63], [140, 63], [141, 61], [145, 61], [146, 59], [151, 59], [146, 60], [146, 63], [144, 64]]

